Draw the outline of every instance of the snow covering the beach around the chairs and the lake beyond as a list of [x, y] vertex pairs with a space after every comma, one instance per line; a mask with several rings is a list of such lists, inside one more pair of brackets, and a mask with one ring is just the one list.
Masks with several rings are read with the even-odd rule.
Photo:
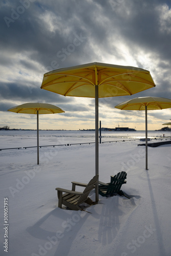
[[[101, 197], [87, 211], [58, 208], [56, 187], [71, 189], [71, 181], [88, 183], [95, 175], [95, 144], [42, 147], [37, 151], [36, 131], [1, 131], [0, 255], [9, 256], [169, 256], [171, 211], [171, 144], [138, 146], [145, 132], [102, 133], [99, 144], [99, 180], [121, 170], [127, 173], [125, 197]], [[40, 131], [39, 145], [94, 142], [94, 132]], [[162, 132], [149, 131], [151, 138]], [[170, 136], [165, 132], [165, 136]], [[125, 140], [125, 141], [123, 141]], [[81, 187], [76, 190], [82, 191]], [[95, 191], [90, 193], [95, 200]], [[8, 224], [4, 225], [4, 198]], [[88, 212], [89, 211], [89, 212]], [[5, 228], [6, 229], [5, 229]], [[4, 248], [8, 235], [8, 253]]]

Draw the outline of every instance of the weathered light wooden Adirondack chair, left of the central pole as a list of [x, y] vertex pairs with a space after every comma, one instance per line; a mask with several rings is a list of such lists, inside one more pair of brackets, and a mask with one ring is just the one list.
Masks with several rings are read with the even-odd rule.
[[[57, 196], [59, 200], [58, 207], [62, 208], [63, 204], [72, 210], [81, 210], [81, 207], [79, 206], [80, 204], [93, 204], [94, 202], [88, 196], [97, 181], [98, 175], [94, 176], [88, 184], [72, 181], [72, 190], [56, 187], [55, 189], [57, 190]], [[75, 191], [76, 185], [86, 188], [83, 190], [83, 192], [77, 192]]]

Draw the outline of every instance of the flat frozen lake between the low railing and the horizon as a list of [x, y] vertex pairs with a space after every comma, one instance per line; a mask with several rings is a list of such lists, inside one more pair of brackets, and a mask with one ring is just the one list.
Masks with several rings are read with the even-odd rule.
[[[170, 136], [170, 132], [148, 131], [148, 138]], [[145, 138], [145, 131], [101, 132], [101, 142]], [[0, 131], [1, 148], [36, 146], [36, 131]], [[95, 131], [39, 131], [39, 145], [95, 142]]]

